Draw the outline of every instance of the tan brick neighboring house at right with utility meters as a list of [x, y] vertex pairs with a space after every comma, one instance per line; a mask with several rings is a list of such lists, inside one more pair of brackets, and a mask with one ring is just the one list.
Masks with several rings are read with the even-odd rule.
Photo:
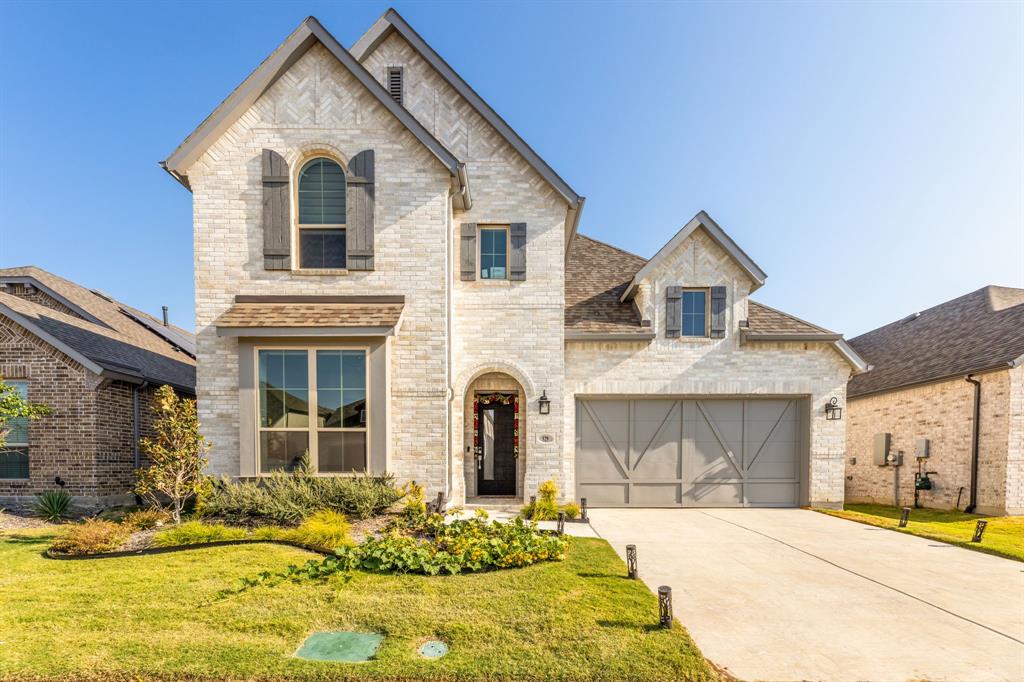
[[[914, 474], [934, 472], [924, 507], [1024, 513], [1024, 289], [985, 287], [850, 345], [872, 369], [847, 388], [847, 501], [909, 505]], [[876, 463], [880, 434], [902, 465]]]

